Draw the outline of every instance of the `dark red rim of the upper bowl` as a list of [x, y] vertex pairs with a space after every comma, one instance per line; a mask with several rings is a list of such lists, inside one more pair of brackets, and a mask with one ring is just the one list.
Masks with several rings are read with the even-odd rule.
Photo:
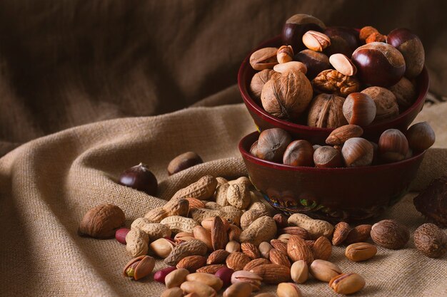
[[[243, 59], [241, 66], [238, 70], [238, 88], [239, 92], [241, 93], [242, 99], [246, 105], [248, 105], [248, 109], [251, 108], [251, 110], [258, 115], [258, 117], [262, 118], [263, 120], [266, 120], [266, 122], [270, 123], [271, 125], [274, 125], [275, 127], [280, 127], [284, 130], [293, 130], [295, 132], [327, 132], [330, 133], [334, 129], [333, 128], [321, 128], [321, 127], [310, 127], [308, 125], [301, 125], [296, 124], [292, 122], [288, 122], [286, 120], [281, 120], [279, 118], [274, 117], [273, 115], [269, 114], [262, 108], [261, 105], [258, 105], [252, 98], [251, 95], [248, 93], [248, 85], [245, 83], [245, 80], [243, 79], [243, 73], [246, 73], [249, 69], [248, 66], [250, 65], [250, 56], [253, 52], [257, 51], [260, 48], [264, 48], [266, 46], [271, 46], [271, 43], [276, 43], [278, 41], [281, 41], [281, 35], [275, 36], [271, 39], [268, 39], [267, 41], [263, 41], [259, 46], [254, 48], [245, 59]], [[381, 130], [386, 129], [386, 127], [391, 126], [397, 126], [406, 116], [413, 112], [416, 108], [418, 108], [418, 105], [421, 103], [421, 101], [426, 100], [426, 95], [428, 93], [428, 88], [430, 86], [430, 78], [428, 76], [428, 71], [426, 66], [423, 66], [423, 69], [421, 73], [416, 77], [416, 88], [418, 90], [418, 98], [416, 101], [408, 107], [403, 113], [399, 114], [396, 118], [393, 118], [389, 121], [384, 121], [380, 123], [376, 123], [373, 125], [368, 125], [366, 127], [363, 127], [363, 130]]]

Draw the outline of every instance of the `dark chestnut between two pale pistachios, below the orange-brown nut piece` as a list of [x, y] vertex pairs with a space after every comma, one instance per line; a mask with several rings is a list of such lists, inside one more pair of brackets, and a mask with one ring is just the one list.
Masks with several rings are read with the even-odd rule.
[[325, 50], [328, 56], [343, 53], [343, 55], [351, 57], [359, 45], [358, 31], [354, 28], [328, 27], [323, 33], [331, 38], [331, 46]]

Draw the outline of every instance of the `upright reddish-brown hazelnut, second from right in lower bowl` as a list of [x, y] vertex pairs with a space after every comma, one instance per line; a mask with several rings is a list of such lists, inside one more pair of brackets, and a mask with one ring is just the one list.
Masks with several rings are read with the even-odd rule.
[[408, 141], [397, 129], [383, 131], [378, 139], [378, 153], [384, 162], [397, 162], [405, 159], [408, 153]]

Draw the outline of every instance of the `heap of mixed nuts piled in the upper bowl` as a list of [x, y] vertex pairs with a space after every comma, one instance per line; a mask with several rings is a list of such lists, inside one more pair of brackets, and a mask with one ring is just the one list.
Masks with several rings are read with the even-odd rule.
[[327, 27], [306, 14], [283, 27], [280, 48], [250, 57], [250, 91], [267, 113], [293, 123], [306, 114], [310, 127], [366, 127], [396, 118], [416, 98], [413, 79], [423, 70], [421, 40], [408, 29], [383, 36], [376, 28], [360, 31]]

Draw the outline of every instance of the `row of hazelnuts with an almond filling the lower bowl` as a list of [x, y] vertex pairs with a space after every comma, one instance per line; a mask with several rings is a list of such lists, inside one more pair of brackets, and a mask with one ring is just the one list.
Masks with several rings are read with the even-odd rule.
[[[353, 118], [360, 113], [356, 108], [350, 110]], [[343, 125], [331, 132], [327, 145], [320, 146], [307, 140], [292, 140], [286, 130], [271, 128], [261, 132], [251, 145], [250, 153], [263, 160], [291, 166], [356, 167], [408, 159], [413, 152], [422, 152], [435, 142], [433, 129], [426, 122], [412, 125], [405, 135], [397, 129], [385, 130], [377, 144], [361, 138], [362, 134], [359, 125]]]

